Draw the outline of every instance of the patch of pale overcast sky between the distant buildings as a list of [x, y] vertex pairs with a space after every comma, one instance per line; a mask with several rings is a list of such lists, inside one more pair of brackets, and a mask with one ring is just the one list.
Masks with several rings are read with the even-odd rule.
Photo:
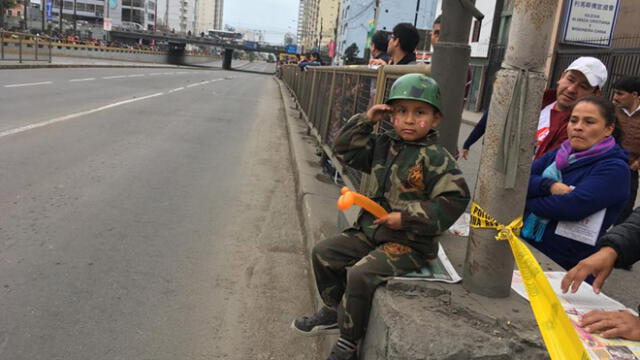
[[282, 43], [285, 33], [296, 33], [299, 4], [299, 0], [225, 0], [223, 22], [264, 30], [266, 41]]

